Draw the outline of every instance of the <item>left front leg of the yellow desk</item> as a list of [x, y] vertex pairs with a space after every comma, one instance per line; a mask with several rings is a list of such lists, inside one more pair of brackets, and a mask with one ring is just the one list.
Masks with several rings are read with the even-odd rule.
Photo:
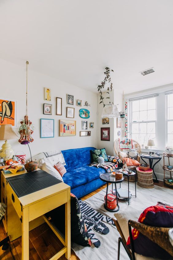
[[29, 208], [23, 208], [22, 217], [22, 260], [29, 260]]

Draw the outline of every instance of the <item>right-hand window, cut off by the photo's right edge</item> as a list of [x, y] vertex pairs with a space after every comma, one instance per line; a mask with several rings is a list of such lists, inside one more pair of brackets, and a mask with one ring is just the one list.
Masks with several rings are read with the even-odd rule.
[[173, 93], [166, 94], [166, 120], [167, 120], [167, 133], [166, 144], [173, 146]]

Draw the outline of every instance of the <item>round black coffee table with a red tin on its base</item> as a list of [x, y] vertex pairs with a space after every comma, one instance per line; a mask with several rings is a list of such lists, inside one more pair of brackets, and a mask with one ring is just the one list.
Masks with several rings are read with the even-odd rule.
[[[118, 205], [118, 197], [117, 197], [117, 183], [121, 183], [124, 180], [124, 177], [122, 177], [122, 179], [116, 179], [115, 176], [113, 176], [111, 173], [102, 173], [100, 175], [100, 179], [104, 182], [107, 183], [107, 187], [106, 187], [106, 200], [104, 203], [104, 207], [107, 211], [111, 211], [111, 212], [117, 212], [120, 209], [120, 206]], [[116, 199], [117, 199], [117, 209], [115, 208], [114, 210], [108, 209], [107, 206], [107, 195], [108, 195], [108, 186], [109, 183], [112, 183], [112, 194], [113, 194], [113, 183], [115, 184], [115, 192], [116, 192]]]

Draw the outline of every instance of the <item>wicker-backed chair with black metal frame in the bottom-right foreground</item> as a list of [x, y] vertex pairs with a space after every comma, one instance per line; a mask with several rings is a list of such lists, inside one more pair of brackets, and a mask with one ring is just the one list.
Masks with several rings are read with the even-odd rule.
[[[141, 234], [148, 237], [151, 241], [162, 247], [164, 250], [166, 250], [172, 257], [173, 257], [173, 246], [171, 245], [169, 241], [169, 234], [168, 231], [171, 229], [166, 227], [152, 227], [148, 225], [144, 225], [142, 223], [139, 223], [134, 220], [128, 221], [129, 226], [129, 236], [130, 236], [130, 246], [131, 250], [126, 246], [125, 237], [122, 233], [121, 227], [118, 224], [118, 221], [113, 218], [113, 221], [117, 227], [117, 230], [119, 231], [121, 237], [118, 238], [118, 260], [120, 259], [120, 244], [122, 243], [123, 247], [125, 248], [125, 251], [127, 252], [129, 258], [131, 260], [135, 260], [135, 251], [134, 251], [134, 245], [133, 245], [133, 238], [132, 238], [132, 230], [131, 227], [136, 228]], [[145, 257], [143, 257], [145, 259]], [[147, 259], [147, 258], [146, 258]], [[154, 259], [154, 258], [153, 258]]]

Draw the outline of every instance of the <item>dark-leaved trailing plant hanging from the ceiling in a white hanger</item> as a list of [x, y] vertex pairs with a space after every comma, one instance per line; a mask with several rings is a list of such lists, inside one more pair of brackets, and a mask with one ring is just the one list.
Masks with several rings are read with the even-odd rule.
[[[103, 107], [105, 107], [105, 103], [104, 103], [104, 97], [102, 96], [102, 89], [104, 89], [106, 82], [110, 83], [110, 87], [107, 88], [107, 94], [109, 95], [108, 98], [110, 100], [110, 91], [112, 91], [112, 82], [111, 82], [111, 78], [110, 78], [110, 72], [113, 72], [113, 69], [110, 69], [108, 67], [105, 68], [105, 78], [104, 80], [101, 82], [101, 85], [98, 85], [97, 90], [98, 93], [100, 94], [100, 104], [103, 103]], [[110, 103], [110, 101], [109, 101]]]

